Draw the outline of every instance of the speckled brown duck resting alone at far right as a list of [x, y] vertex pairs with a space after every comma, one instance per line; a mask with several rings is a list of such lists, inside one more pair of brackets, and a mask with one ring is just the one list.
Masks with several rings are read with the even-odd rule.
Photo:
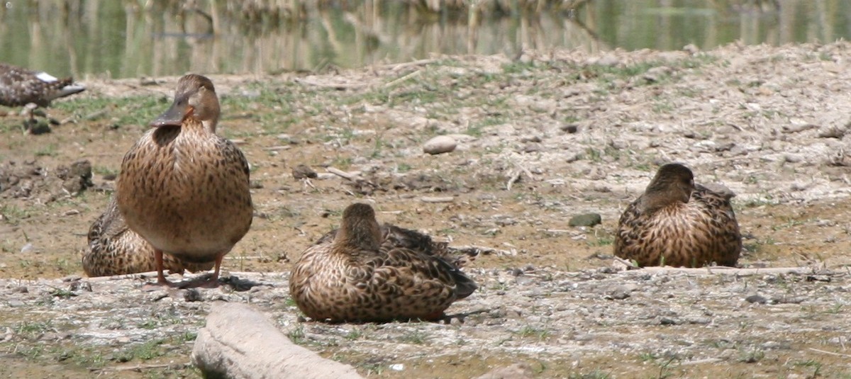
[[731, 195], [694, 184], [688, 167], [660, 167], [620, 216], [614, 255], [640, 266], [735, 266], [741, 252]]

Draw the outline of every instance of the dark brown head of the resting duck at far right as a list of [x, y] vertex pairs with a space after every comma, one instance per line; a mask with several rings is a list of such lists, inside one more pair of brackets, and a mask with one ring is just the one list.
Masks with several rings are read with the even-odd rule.
[[671, 203], [687, 203], [694, 191], [694, 174], [679, 163], [668, 163], [659, 167], [656, 176], [642, 195], [644, 212], [652, 212]]

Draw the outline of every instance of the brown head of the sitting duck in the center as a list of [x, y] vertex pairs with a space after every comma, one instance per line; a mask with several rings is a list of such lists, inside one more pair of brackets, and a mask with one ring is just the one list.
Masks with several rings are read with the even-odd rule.
[[363, 203], [347, 206], [334, 242], [348, 247], [378, 251], [381, 245], [381, 227], [375, 219], [372, 206]]

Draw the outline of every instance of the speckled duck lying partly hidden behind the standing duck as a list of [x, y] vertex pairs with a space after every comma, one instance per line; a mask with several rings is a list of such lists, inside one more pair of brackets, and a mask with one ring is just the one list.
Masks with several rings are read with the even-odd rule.
[[[182, 273], [213, 268], [213, 263], [185, 263], [163, 255], [163, 269]], [[83, 253], [83, 271], [89, 276], [143, 273], [156, 270], [154, 248], [127, 227], [115, 199], [89, 228], [89, 248]]]

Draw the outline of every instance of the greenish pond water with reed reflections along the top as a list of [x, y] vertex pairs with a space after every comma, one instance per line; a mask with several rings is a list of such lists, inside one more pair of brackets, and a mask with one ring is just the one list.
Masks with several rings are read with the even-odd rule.
[[0, 61], [84, 79], [323, 71], [523, 48], [831, 42], [851, 38], [849, 11], [845, 0], [6, 0]]

